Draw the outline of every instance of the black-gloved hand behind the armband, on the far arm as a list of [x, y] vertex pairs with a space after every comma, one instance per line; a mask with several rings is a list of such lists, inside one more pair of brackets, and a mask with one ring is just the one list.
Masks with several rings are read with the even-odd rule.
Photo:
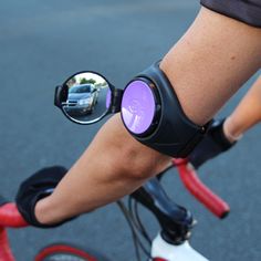
[[217, 157], [236, 144], [236, 142], [230, 143], [225, 136], [223, 123], [225, 119], [213, 119], [203, 139], [188, 156], [188, 160], [195, 168], [199, 168], [203, 163]]

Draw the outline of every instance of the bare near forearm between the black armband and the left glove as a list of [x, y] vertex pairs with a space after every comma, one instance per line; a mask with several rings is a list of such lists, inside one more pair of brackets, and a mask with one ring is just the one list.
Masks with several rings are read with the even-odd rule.
[[70, 169], [55, 191], [39, 201], [40, 222], [58, 222], [115, 201], [138, 188], [169, 165], [169, 157], [139, 144], [111, 118]]

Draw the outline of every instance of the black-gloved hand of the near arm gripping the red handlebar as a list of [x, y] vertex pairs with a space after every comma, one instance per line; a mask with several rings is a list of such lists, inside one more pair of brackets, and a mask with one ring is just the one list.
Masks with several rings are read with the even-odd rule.
[[29, 225], [39, 228], [53, 228], [64, 222], [55, 225], [40, 223], [35, 218], [34, 207], [40, 199], [48, 197], [53, 192], [54, 188], [66, 173], [67, 169], [61, 166], [43, 168], [20, 185], [15, 197], [17, 207]]

